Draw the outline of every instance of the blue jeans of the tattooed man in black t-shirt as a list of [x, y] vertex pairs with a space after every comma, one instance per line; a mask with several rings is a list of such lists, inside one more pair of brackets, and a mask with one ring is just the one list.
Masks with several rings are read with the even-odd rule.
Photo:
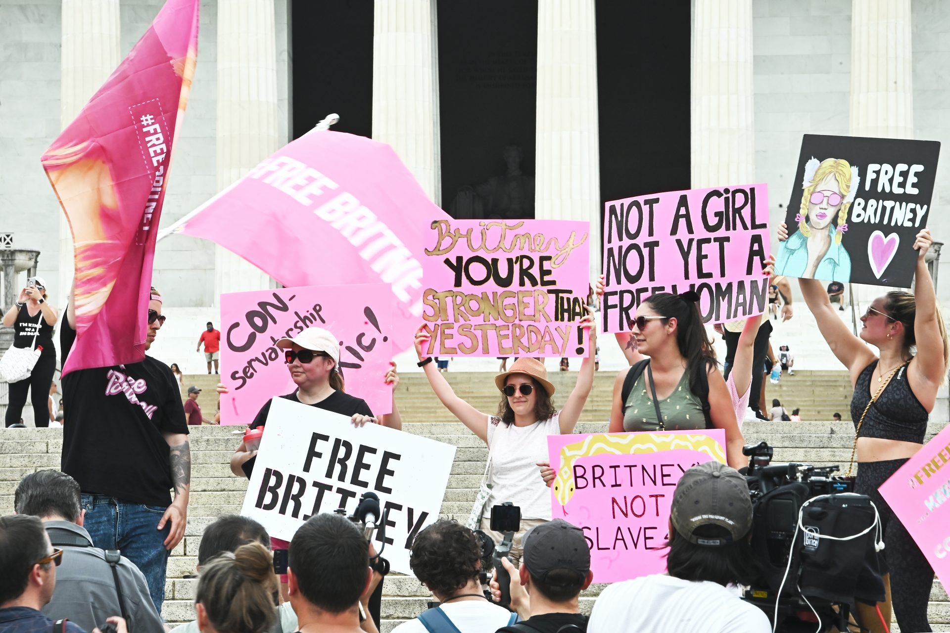
[[165, 598], [165, 568], [168, 555], [164, 540], [171, 523], [157, 530], [165, 508], [128, 503], [104, 494], [83, 493], [85, 522], [83, 527], [92, 543], [101, 549], [120, 549], [122, 555], [135, 563], [145, 576], [148, 592], [161, 615]]

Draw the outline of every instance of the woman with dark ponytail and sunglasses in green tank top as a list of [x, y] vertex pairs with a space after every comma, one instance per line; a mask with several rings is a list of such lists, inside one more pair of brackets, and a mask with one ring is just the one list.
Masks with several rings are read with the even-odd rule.
[[631, 335], [649, 359], [618, 374], [610, 432], [723, 429], [729, 465], [741, 468], [744, 440], [698, 301], [693, 291], [658, 292], [637, 307]]

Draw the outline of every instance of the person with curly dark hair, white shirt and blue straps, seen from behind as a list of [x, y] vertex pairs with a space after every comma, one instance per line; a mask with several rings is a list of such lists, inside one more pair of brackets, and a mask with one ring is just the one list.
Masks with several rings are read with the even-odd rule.
[[485, 633], [517, 622], [517, 614], [485, 598], [483, 558], [475, 532], [455, 521], [442, 519], [416, 534], [409, 566], [439, 605], [393, 633]]

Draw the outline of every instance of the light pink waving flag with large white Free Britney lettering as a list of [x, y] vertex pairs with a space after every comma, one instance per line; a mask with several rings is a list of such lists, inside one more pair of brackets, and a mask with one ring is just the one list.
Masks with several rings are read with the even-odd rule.
[[394, 351], [422, 324], [422, 256], [439, 209], [392, 148], [320, 131], [285, 145], [172, 229], [287, 287], [389, 284]]

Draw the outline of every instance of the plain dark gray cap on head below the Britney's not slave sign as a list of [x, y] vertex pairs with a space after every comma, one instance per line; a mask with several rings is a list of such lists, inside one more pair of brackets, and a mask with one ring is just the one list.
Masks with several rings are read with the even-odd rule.
[[535, 578], [553, 569], [573, 569], [581, 577], [591, 569], [591, 550], [584, 532], [564, 519], [542, 523], [524, 532], [522, 560]]

